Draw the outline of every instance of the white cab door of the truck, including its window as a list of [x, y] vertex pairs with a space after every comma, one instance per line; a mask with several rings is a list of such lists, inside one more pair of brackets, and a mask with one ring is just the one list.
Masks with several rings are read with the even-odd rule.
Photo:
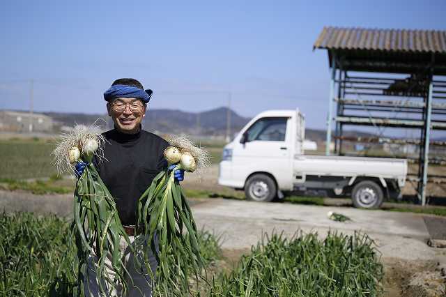
[[290, 117], [265, 117], [245, 131], [243, 141], [233, 149], [233, 177], [246, 178], [252, 172], [269, 172], [281, 190], [292, 187], [293, 137]]

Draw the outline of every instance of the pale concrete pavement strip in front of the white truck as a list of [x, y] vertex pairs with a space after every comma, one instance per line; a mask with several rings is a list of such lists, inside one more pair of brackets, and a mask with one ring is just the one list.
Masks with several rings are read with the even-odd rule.
[[[355, 208], [304, 206], [282, 203], [257, 203], [233, 199], [206, 199], [193, 208], [199, 227], [222, 235], [223, 248], [249, 248], [263, 232], [318, 231], [324, 236], [331, 230], [354, 234], [367, 233], [378, 245], [383, 257], [406, 260], [433, 260], [436, 250], [426, 245], [429, 233], [422, 215], [388, 211], [364, 211]], [[350, 222], [334, 222], [328, 211], [351, 218]]]

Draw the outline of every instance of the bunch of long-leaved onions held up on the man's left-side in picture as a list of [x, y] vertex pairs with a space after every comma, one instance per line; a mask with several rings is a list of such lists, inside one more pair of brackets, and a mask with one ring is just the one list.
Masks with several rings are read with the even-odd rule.
[[[82, 176], [77, 178], [74, 194], [74, 211], [72, 234], [77, 245], [77, 274], [80, 292], [84, 292], [84, 282], [89, 277], [87, 273], [88, 259], [95, 256], [97, 282], [102, 294], [109, 294], [116, 286], [127, 291], [125, 284], [125, 266], [121, 260], [119, 243], [125, 238], [121, 220], [116, 210], [116, 204], [107, 187], [102, 182], [98, 171], [93, 165], [93, 158], [102, 162], [105, 139], [100, 129], [94, 125], [76, 125], [69, 133], [61, 136], [61, 142], [53, 151], [55, 164], [59, 172], [69, 172], [75, 175], [76, 162], [86, 162], [87, 166]], [[107, 273], [105, 259], [109, 258], [114, 273]], [[94, 259], [94, 258], [93, 258]], [[82, 294], [81, 293], [81, 294]]]

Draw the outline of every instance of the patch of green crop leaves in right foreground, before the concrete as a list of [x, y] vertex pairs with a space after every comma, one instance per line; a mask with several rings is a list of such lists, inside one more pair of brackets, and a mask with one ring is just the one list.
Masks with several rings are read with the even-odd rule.
[[207, 296], [377, 296], [383, 265], [365, 235], [265, 235], [229, 274], [214, 278]]

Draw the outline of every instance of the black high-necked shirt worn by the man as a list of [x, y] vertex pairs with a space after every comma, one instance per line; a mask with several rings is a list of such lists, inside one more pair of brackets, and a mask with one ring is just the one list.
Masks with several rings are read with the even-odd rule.
[[169, 144], [145, 130], [124, 134], [114, 129], [102, 135], [107, 139], [105, 160], [95, 160], [95, 166], [116, 201], [122, 224], [136, 224], [138, 199], [153, 178], [167, 167], [163, 152]]

